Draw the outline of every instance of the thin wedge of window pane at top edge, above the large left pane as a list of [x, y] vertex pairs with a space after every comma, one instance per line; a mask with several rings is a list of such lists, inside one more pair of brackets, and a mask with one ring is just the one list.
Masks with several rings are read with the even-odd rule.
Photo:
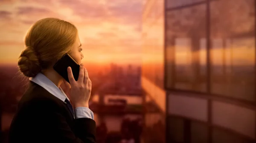
[[204, 2], [206, 0], [166, 0], [166, 8], [175, 8], [178, 6], [186, 6], [193, 3]]

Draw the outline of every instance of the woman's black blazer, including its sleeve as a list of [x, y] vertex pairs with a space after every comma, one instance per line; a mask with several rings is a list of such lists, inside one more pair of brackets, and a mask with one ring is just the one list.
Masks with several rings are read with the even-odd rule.
[[96, 123], [74, 119], [67, 105], [30, 81], [12, 120], [9, 143], [95, 143]]

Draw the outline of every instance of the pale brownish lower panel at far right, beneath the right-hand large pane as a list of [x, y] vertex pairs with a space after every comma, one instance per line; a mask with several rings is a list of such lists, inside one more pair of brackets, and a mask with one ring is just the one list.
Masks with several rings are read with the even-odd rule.
[[255, 111], [245, 107], [227, 104], [224, 102], [212, 102], [212, 123], [232, 129], [248, 137], [255, 137]]

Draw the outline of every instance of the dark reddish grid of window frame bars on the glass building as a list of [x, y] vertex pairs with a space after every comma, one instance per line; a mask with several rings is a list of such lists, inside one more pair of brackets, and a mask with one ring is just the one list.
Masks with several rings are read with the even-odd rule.
[[[249, 108], [249, 109], [253, 109], [255, 110], [255, 115], [256, 115], [256, 58], [255, 58], [255, 65], [254, 65], [254, 81], [255, 81], [255, 92], [254, 92], [254, 98], [255, 100], [254, 101], [249, 101], [249, 100], [245, 100], [245, 99], [241, 99], [241, 98], [234, 98], [234, 97], [230, 97], [230, 96], [224, 96], [224, 95], [217, 95], [217, 94], [212, 94], [210, 91], [211, 91], [211, 65], [210, 65], [210, 50], [211, 50], [211, 45], [210, 45], [210, 40], [211, 40], [211, 27], [210, 27], [210, 3], [212, 1], [216, 1], [216, 0], [205, 0], [205, 1], [202, 1], [202, 2], [198, 2], [198, 3], [193, 3], [193, 4], [189, 4], [189, 5], [186, 5], [186, 6], [178, 6], [178, 7], [173, 7], [173, 8], [167, 8], [166, 6], [166, 3], [167, 3], [167, 0], [165, 0], [165, 7], [164, 7], [164, 90], [166, 90], [166, 112], [168, 112], [168, 96], [169, 94], [172, 94], [172, 93], [175, 93], [176, 95], [177, 94], [181, 94], [181, 95], [187, 95], [187, 96], [194, 96], [194, 97], [197, 97], [197, 98], [204, 98], [204, 99], [207, 99], [208, 100], [208, 106], [207, 106], [207, 118], [208, 118], [208, 121], [207, 122], [202, 122], [202, 123], [205, 123], [207, 124], [208, 126], [208, 142], [209, 143], [212, 143], [212, 134], [213, 134], [213, 128], [218, 128], [218, 129], [223, 129], [227, 132], [230, 132], [230, 133], [233, 133], [234, 135], [239, 135], [239, 136], [242, 136], [244, 138], [247, 138], [249, 139], [248, 137], [245, 137], [244, 135], [241, 135], [233, 130], [230, 130], [230, 129], [226, 129], [226, 128], [223, 128], [221, 126], [216, 126], [216, 125], [213, 125], [212, 124], [212, 101], [222, 101], [222, 102], [225, 102], [225, 103], [231, 103], [231, 104], [234, 104], [234, 105], [237, 105], [237, 106], [241, 106], [241, 107], [245, 107], [245, 108]], [[173, 88], [174, 84], [173, 84], [173, 80], [171, 81], [172, 82], [172, 88], [170, 87], [167, 87], [167, 52], [166, 52], [166, 48], [167, 48], [167, 44], [166, 44], [166, 25], [167, 25], [167, 20], [166, 20], [166, 15], [167, 15], [167, 12], [168, 11], [174, 11], [174, 10], [179, 10], [179, 9], [182, 9], [182, 8], [187, 8], [187, 7], [190, 7], [190, 6], [197, 6], [197, 5], [201, 5], [201, 4], [206, 4], [206, 39], [207, 39], [207, 45], [206, 45], [206, 49], [207, 49], [207, 92], [197, 92], [197, 91], [192, 91], [192, 90], [177, 90], [175, 88]], [[256, 41], [256, 1], [254, 1], [254, 25], [255, 25], [255, 31], [254, 31], [254, 39]], [[254, 45], [254, 48], [256, 48], [256, 42], [255, 42], [255, 45]], [[255, 55], [256, 55], [256, 50], [255, 50]], [[174, 65], [174, 62], [175, 61], [172, 61], [172, 65]], [[172, 69], [174, 70], [174, 69]], [[174, 73], [172, 71], [172, 73]], [[175, 76], [172, 76], [171, 78], [175, 78]], [[169, 130], [167, 129], [167, 127], [169, 126], [169, 117], [170, 116], [174, 116], [174, 117], [179, 117], [179, 118], [183, 118], [183, 119], [188, 119], [188, 120], [191, 120], [191, 121], [197, 121], [195, 119], [191, 119], [191, 118], [186, 118], [186, 117], [181, 117], [181, 116], [177, 116], [177, 115], [169, 115], [168, 113], [166, 113], [166, 142], [170, 142], [170, 139], [168, 136], [169, 134]], [[256, 122], [256, 121], [255, 121]], [[256, 129], [256, 123], [255, 123], [255, 129]], [[256, 135], [255, 135], [256, 137]], [[253, 141], [256, 141], [256, 138], [255, 139], [252, 139]]]

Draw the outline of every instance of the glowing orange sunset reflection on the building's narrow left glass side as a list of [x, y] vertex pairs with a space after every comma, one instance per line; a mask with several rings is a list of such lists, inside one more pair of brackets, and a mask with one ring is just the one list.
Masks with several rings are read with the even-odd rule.
[[163, 0], [153, 0], [143, 17], [143, 76], [163, 89]]

